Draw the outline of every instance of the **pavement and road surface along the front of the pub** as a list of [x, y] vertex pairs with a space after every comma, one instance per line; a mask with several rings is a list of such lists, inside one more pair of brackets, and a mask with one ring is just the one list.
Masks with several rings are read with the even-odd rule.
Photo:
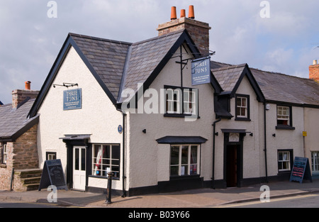
[[10, 192], [0, 191], [0, 201], [57, 204], [69, 207], [86, 208], [211, 208], [224, 204], [235, 204], [244, 201], [259, 201], [264, 194], [260, 191], [267, 185], [270, 201], [284, 196], [297, 196], [319, 192], [319, 179], [299, 182], [269, 182], [250, 187], [228, 189], [191, 189], [181, 192], [147, 194], [139, 196], [112, 196], [111, 204], [106, 204], [106, 194], [78, 192], [74, 190], [57, 190], [57, 203], [47, 200], [54, 196], [49, 191]]

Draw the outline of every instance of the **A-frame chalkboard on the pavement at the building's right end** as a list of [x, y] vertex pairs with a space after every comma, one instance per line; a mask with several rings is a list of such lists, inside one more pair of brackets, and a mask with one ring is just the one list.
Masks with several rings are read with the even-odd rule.
[[313, 182], [310, 172], [309, 160], [306, 157], [295, 157], [290, 181], [298, 181], [302, 183], [303, 179], [308, 179], [310, 180], [310, 182]]

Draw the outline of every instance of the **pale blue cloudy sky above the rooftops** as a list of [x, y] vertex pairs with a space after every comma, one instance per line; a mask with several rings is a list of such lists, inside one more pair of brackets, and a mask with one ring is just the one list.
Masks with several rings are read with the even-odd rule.
[[211, 26], [211, 60], [303, 78], [319, 60], [316, 0], [0, 0], [0, 101], [26, 81], [40, 90], [68, 33], [135, 43], [190, 5]]

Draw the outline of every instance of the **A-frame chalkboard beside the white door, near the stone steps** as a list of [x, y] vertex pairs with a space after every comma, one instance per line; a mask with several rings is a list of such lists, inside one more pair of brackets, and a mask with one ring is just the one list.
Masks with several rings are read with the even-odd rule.
[[67, 184], [65, 183], [65, 174], [61, 160], [45, 160], [43, 166], [43, 172], [41, 175], [39, 191], [43, 188], [47, 189], [50, 185], [54, 185], [57, 189], [67, 190]]

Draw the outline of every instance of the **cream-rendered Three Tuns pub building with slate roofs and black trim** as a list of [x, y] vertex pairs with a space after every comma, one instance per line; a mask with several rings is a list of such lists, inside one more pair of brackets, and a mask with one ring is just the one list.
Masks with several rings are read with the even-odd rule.
[[211, 27], [189, 9], [138, 43], [67, 35], [28, 113], [41, 169], [60, 159], [86, 192], [113, 172], [132, 196], [289, 181], [294, 157], [319, 153], [318, 84], [213, 61]]

